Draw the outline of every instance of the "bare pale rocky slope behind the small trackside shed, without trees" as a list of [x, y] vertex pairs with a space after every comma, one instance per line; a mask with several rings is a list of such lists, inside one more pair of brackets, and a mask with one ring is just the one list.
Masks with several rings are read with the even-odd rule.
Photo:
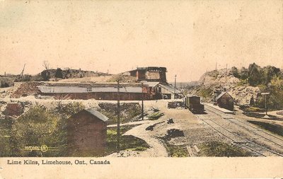
[[213, 91], [224, 91], [225, 88], [238, 105], [250, 103], [252, 97], [256, 100], [260, 92], [260, 88], [248, 86], [233, 76], [231, 69], [208, 71], [200, 77], [198, 83], [198, 86], [189, 88], [188, 93], [202, 96], [206, 102], [212, 100]]

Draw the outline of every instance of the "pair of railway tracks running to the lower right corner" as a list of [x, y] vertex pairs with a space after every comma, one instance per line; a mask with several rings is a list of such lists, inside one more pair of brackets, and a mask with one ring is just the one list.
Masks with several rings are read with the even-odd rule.
[[[206, 109], [211, 112], [214, 112], [214, 114], [216, 115], [220, 115], [221, 118], [227, 120], [227, 122], [233, 125], [237, 125], [245, 129], [246, 131], [253, 133], [255, 137], [262, 137], [262, 139], [265, 139], [267, 142], [272, 143], [273, 145], [277, 145], [277, 148], [279, 147], [280, 149], [283, 149], [283, 140], [279, 137], [269, 134], [268, 132], [265, 132], [262, 129], [258, 129], [257, 127], [253, 127], [252, 125], [246, 124], [246, 122], [241, 122], [240, 120], [237, 120], [230, 115], [226, 115], [221, 112], [219, 113], [218, 111], [213, 110], [213, 108], [211, 109], [211, 107], [208, 107]], [[267, 148], [262, 144], [257, 144], [249, 139], [241, 137], [239, 134], [229, 129], [229, 127], [219, 124], [219, 122], [217, 122], [219, 120], [208, 118], [205, 115], [198, 115], [198, 117], [200, 118], [200, 120], [202, 120], [207, 125], [216, 130], [216, 132], [219, 132], [219, 134], [223, 135], [231, 142], [233, 142], [233, 144], [236, 144], [237, 146], [241, 146], [252, 151], [255, 156], [283, 156], [283, 154], [280, 154], [274, 149]]]

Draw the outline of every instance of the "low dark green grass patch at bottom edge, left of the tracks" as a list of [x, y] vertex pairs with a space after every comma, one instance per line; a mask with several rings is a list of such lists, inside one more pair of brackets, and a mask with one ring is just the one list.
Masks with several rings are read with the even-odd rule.
[[200, 156], [252, 156], [250, 151], [223, 142], [200, 144]]

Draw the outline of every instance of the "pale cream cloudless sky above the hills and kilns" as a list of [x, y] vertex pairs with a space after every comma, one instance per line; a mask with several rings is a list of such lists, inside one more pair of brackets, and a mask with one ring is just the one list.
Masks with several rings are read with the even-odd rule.
[[283, 1], [0, 0], [0, 74], [167, 67], [195, 81], [216, 68], [283, 68]]

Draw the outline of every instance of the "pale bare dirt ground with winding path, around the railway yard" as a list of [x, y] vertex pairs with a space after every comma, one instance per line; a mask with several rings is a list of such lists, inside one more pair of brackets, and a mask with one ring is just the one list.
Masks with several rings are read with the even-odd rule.
[[[6, 89], [9, 90], [9, 89]], [[11, 90], [11, 89], [10, 89]], [[1, 98], [1, 101], [6, 103], [9, 102], [28, 102], [32, 105], [39, 104], [48, 106], [54, 106], [56, 103], [70, 103], [70, 102], [81, 102], [86, 108], [95, 108], [98, 106], [98, 103], [107, 102], [107, 103], [117, 103], [117, 101], [109, 101], [109, 100], [54, 100], [50, 99], [37, 99], [34, 96], [27, 96], [22, 98]], [[144, 139], [146, 143], [149, 144], [150, 148], [146, 151], [140, 151], [139, 154], [134, 154], [129, 156], [145, 156], [145, 157], [156, 157], [156, 156], [168, 156], [168, 151], [166, 151], [166, 144], [163, 140], [163, 137], [166, 137], [168, 131], [171, 129], [178, 129], [183, 132], [184, 136], [181, 137], [172, 137], [168, 140], [169, 144], [175, 146], [200, 146], [200, 144], [204, 142], [224, 142], [227, 144], [231, 144], [231, 141], [224, 137], [223, 135], [216, 132], [212, 127], [207, 125], [204, 121], [200, 119], [202, 115], [194, 115], [189, 110], [185, 109], [168, 109], [167, 104], [170, 100], [151, 100], [144, 101], [144, 109], [145, 112], [151, 110], [151, 108], [158, 108], [160, 112], [163, 112], [164, 115], [160, 117], [158, 120], [147, 120], [145, 117], [144, 121], [132, 122], [129, 125], [138, 125], [129, 129], [125, 134], [131, 134], [134, 137], [139, 137], [140, 139]], [[121, 103], [132, 103], [136, 102], [141, 104], [141, 101], [121, 101]], [[3, 110], [1, 108], [1, 110]], [[236, 134], [241, 135], [246, 139], [253, 139], [258, 144], [264, 144], [265, 146], [269, 146], [271, 149], [276, 149], [278, 152], [283, 153], [282, 148], [279, 146], [275, 146], [274, 144], [267, 142], [265, 139], [261, 139], [260, 137], [255, 137], [252, 132], [248, 132], [241, 127], [237, 127], [236, 125], [231, 124], [228, 120], [224, 120], [221, 116], [215, 115], [213, 112], [207, 111], [205, 115], [207, 118], [211, 120], [215, 120], [219, 122], [220, 125], [227, 127]], [[265, 119], [256, 119], [253, 117], [246, 117], [241, 114], [240, 110], [236, 111], [236, 115], [234, 115], [238, 120], [242, 120], [246, 122], [247, 120], [257, 120], [263, 122], [270, 122], [277, 125], [283, 125], [283, 121], [274, 121], [274, 120], [265, 120]], [[173, 122], [168, 122], [169, 119], [173, 119]], [[126, 124], [124, 124], [126, 125]], [[251, 124], [250, 124], [251, 125]], [[253, 125], [257, 127], [256, 125]], [[146, 128], [151, 127], [151, 130], [146, 130]], [[279, 136], [278, 136], [279, 137]], [[279, 137], [283, 139], [283, 137]], [[283, 144], [282, 144], [283, 145]], [[128, 151], [127, 151], [128, 152]]]

